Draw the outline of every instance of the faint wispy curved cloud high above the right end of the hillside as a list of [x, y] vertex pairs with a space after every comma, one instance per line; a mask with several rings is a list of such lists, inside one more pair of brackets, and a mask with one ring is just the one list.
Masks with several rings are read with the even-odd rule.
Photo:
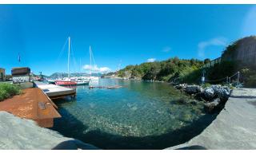
[[198, 57], [205, 57], [205, 50], [210, 45], [215, 46], [226, 46], [227, 40], [225, 37], [215, 37], [213, 39], [210, 39], [208, 41], [201, 41], [198, 43]]

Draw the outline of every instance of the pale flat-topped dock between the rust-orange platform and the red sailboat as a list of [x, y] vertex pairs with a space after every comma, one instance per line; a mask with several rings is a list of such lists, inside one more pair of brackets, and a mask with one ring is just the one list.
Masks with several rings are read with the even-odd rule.
[[66, 96], [76, 96], [74, 88], [66, 88], [54, 84], [46, 84], [39, 81], [34, 81], [36, 87], [41, 88], [51, 100], [63, 98]]

